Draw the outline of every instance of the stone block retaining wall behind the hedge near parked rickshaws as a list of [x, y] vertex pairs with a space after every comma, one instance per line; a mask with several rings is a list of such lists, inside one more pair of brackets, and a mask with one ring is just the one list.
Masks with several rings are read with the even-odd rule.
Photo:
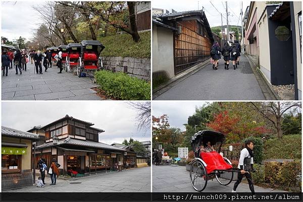
[[107, 70], [150, 81], [150, 58], [102, 57], [102, 61]]

